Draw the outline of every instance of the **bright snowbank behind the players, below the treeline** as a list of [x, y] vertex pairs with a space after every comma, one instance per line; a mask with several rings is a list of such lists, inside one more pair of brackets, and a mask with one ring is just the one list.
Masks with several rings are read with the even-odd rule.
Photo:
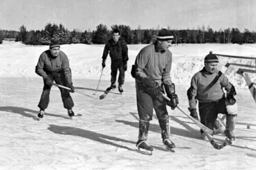
[[[128, 45], [129, 61], [126, 72], [126, 81], [131, 81], [131, 66], [138, 52], [146, 45]], [[255, 57], [256, 45], [173, 45], [169, 49], [173, 53], [172, 79], [175, 83], [189, 85], [191, 76], [204, 67], [204, 57], [212, 51], [227, 55], [242, 55]], [[26, 46], [20, 42], [3, 41], [0, 45], [0, 76], [2, 77], [37, 77], [35, 66], [40, 53], [47, 50], [49, 46]], [[99, 79], [104, 45], [72, 44], [61, 45], [61, 50], [67, 53], [70, 60], [73, 78]], [[253, 60], [230, 59], [221, 57], [221, 60], [232, 61], [240, 64], [255, 64]], [[226, 67], [220, 64], [219, 69], [225, 72]], [[110, 79], [110, 59], [108, 57], [102, 80]], [[252, 80], [256, 81], [255, 74], [250, 74]], [[228, 78], [236, 87], [247, 88], [243, 77], [231, 73]]]

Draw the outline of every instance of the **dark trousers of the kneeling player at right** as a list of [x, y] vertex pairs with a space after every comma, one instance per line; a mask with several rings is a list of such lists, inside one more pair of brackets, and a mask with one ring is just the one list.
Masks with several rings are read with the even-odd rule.
[[227, 114], [225, 99], [212, 103], [199, 103], [198, 107], [201, 123], [209, 129], [213, 129], [218, 113]]

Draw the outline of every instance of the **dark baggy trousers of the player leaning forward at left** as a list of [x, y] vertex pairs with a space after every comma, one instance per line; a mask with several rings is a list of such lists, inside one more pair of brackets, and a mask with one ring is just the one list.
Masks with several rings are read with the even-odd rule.
[[[54, 73], [47, 73], [47, 75], [51, 78], [51, 80], [55, 81], [59, 85], [63, 85], [67, 87], [67, 81], [65, 79], [65, 74], [63, 71], [61, 72], [54, 72]], [[60, 88], [61, 92], [61, 99], [63, 102], [63, 106], [66, 109], [71, 109], [74, 107], [74, 102], [70, 96], [70, 92], [67, 89]], [[50, 101], [50, 91], [51, 87], [49, 85], [45, 85], [45, 80], [44, 80], [44, 89], [38, 104], [38, 107], [40, 109], [45, 110], [48, 107], [49, 101]]]

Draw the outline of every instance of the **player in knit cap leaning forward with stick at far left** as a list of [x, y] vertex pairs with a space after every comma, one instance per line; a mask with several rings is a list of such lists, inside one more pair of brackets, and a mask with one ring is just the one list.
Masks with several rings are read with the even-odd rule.
[[[71, 92], [74, 92], [72, 83], [72, 74], [69, 67], [68, 57], [60, 50], [60, 44], [53, 42], [50, 49], [43, 52], [36, 65], [36, 74], [43, 77], [44, 89], [38, 107], [40, 112], [38, 117], [44, 117], [44, 110], [49, 104], [49, 95], [52, 87], [52, 82], [55, 81], [59, 85], [69, 87]], [[68, 110], [70, 117], [74, 116], [72, 107], [74, 106], [70, 93], [66, 89], [59, 88], [64, 108]]]

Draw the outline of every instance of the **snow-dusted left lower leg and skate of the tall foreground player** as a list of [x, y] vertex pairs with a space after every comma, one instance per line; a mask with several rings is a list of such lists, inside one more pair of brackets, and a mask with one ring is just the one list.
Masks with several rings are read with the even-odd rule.
[[140, 120], [138, 136], [139, 139], [136, 143], [136, 147], [138, 148], [138, 152], [143, 153], [145, 155], [152, 155], [153, 148], [146, 143], [148, 137], [148, 128], [149, 122]]

